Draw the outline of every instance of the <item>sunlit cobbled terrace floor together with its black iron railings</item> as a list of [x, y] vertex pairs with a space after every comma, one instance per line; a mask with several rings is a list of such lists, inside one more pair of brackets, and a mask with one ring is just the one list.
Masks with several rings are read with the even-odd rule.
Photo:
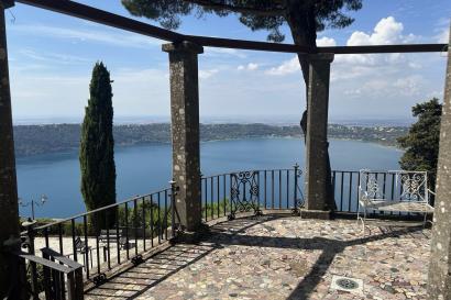
[[[301, 216], [302, 173], [295, 165], [201, 178], [202, 226], [196, 232], [177, 224], [173, 182], [31, 225], [24, 235], [29, 249], [52, 248], [81, 264], [86, 299], [426, 299], [431, 231], [420, 215], [383, 215], [364, 233], [355, 220], [360, 173], [332, 175], [334, 220]], [[393, 174], [375, 176], [388, 193], [402, 193]], [[110, 235], [91, 229], [89, 220], [99, 214], [118, 215]], [[337, 288], [341, 277], [355, 279], [359, 288]]]

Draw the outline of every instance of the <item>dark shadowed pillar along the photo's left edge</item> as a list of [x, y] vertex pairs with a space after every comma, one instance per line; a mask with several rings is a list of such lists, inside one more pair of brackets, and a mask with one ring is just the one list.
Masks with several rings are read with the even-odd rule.
[[[12, 247], [19, 249], [19, 208], [15, 179], [14, 138], [12, 133], [11, 93], [8, 70], [4, 9], [12, 5], [0, 1], [0, 298], [3, 299], [11, 281], [19, 280], [15, 259], [8, 255]], [[6, 246], [6, 241], [9, 246]], [[15, 241], [14, 241], [15, 240]], [[15, 262], [18, 263], [18, 262]], [[19, 299], [19, 298], [18, 298]]]

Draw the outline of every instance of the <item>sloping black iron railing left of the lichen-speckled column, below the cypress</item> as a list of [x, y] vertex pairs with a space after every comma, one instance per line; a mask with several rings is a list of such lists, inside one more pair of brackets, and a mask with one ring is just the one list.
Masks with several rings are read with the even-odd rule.
[[[142, 254], [175, 234], [175, 187], [81, 213], [52, 224], [29, 227], [34, 248], [54, 248], [82, 264], [84, 281], [99, 285], [107, 273], [125, 263], [142, 262]], [[64, 287], [63, 287], [64, 289]]]

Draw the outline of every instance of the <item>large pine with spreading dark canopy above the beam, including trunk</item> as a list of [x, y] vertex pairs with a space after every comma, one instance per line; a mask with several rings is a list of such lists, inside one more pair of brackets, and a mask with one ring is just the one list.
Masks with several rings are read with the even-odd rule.
[[[268, 41], [283, 42], [285, 35], [280, 27], [287, 24], [296, 45], [315, 51], [317, 32], [326, 27], [342, 29], [350, 25], [354, 19], [343, 11], [360, 10], [362, 0], [122, 0], [122, 4], [133, 15], [155, 20], [162, 26], [172, 30], [180, 25], [180, 16], [193, 12], [197, 18], [206, 13], [215, 13], [219, 16], [235, 13], [240, 22], [252, 31], [266, 30]], [[298, 54], [298, 60], [307, 86], [308, 57]], [[300, 122], [304, 134], [307, 132], [306, 111]], [[327, 160], [329, 162], [329, 157]], [[328, 181], [331, 182], [330, 163], [328, 177]], [[328, 198], [331, 201], [329, 205], [333, 208], [331, 184]]]

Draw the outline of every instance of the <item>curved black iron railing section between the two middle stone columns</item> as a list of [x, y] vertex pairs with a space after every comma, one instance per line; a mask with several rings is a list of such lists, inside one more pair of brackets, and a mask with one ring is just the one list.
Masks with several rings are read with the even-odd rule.
[[237, 212], [290, 210], [304, 205], [300, 177], [296, 164], [292, 169], [264, 169], [220, 174], [201, 178], [202, 218], [210, 221]]

